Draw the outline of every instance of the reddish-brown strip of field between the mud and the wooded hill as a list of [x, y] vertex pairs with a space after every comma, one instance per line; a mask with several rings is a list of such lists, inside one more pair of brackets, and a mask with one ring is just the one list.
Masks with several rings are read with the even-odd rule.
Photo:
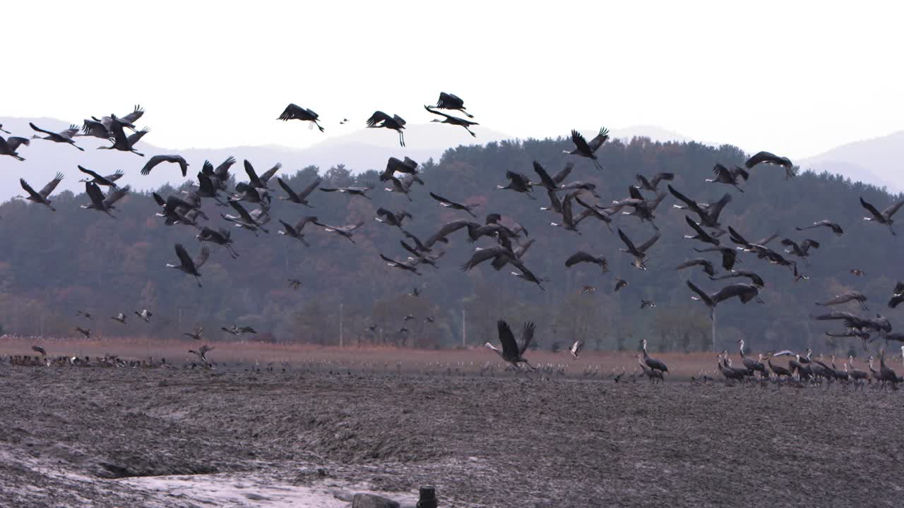
[[[33, 340], [18, 338], [0, 338], [0, 355], [35, 354], [31, 347]], [[202, 343], [208, 343], [215, 349], [208, 354], [212, 362], [239, 362], [242, 365], [268, 365], [270, 362], [285, 362], [289, 366], [305, 370], [325, 370], [346, 368], [353, 372], [425, 372], [445, 373], [449, 369], [457, 373], [479, 373], [489, 362], [501, 369], [502, 364], [496, 353], [482, 346], [469, 349], [448, 350], [415, 350], [388, 347], [326, 347], [309, 344], [270, 344], [270, 343], [232, 343], [232, 342], [194, 342], [191, 340], [143, 341], [134, 338], [110, 339], [103, 341], [87, 341], [66, 339], [61, 341], [40, 341], [50, 356], [103, 356], [116, 354], [124, 359], [155, 360], [165, 358], [167, 362], [182, 364], [192, 362], [195, 358], [188, 353]], [[611, 375], [612, 372], [634, 372], [638, 369], [636, 352], [594, 352], [585, 350], [575, 360], [570, 353], [550, 353], [549, 351], [531, 351], [527, 358], [538, 365], [561, 365], [567, 369], [569, 376], [583, 375], [584, 372], [597, 372], [599, 375]], [[716, 357], [714, 353], [652, 353], [655, 358], [669, 366], [672, 380], [687, 381], [692, 375], [700, 372], [715, 372]]]

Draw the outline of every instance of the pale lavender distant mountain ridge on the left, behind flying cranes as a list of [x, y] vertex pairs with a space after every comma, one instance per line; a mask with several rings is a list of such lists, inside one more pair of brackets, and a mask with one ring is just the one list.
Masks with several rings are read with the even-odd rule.
[[[69, 124], [56, 118], [0, 118], [0, 125], [12, 132], [13, 136], [30, 137], [36, 134], [28, 127], [29, 122], [52, 131], [69, 127]], [[426, 162], [431, 157], [438, 160], [449, 146], [468, 146], [509, 137], [491, 129], [475, 127], [474, 130], [479, 137], [468, 135], [465, 129], [460, 127], [432, 123], [410, 125], [405, 129], [406, 144], [409, 145], [406, 147], [399, 146], [399, 137], [393, 131], [363, 128], [349, 134], [327, 137], [324, 141], [306, 148], [231, 146], [182, 150], [147, 143], [154, 139], [152, 130], [138, 144], [139, 151], [145, 154], [145, 157], [115, 150], [98, 150], [98, 146], [108, 146], [108, 143], [95, 137], [79, 137], [76, 140], [77, 145], [85, 148], [84, 152], [72, 146], [35, 139], [31, 146], [23, 146], [20, 149], [20, 155], [26, 159], [24, 162], [8, 156], [0, 157], [0, 174], [21, 176], [33, 186], [41, 187], [50, 181], [56, 172], [61, 171], [67, 178], [62, 181], [59, 188], [79, 192], [84, 190], [84, 186], [78, 182], [82, 175], [78, 173], [76, 165], [82, 165], [99, 174], [111, 174], [121, 169], [127, 174], [126, 183], [130, 183], [137, 190], [150, 190], [165, 183], [177, 184], [184, 182], [185, 179], [191, 179], [201, 170], [204, 160], [210, 160], [216, 165], [230, 155], [239, 161], [248, 159], [258, 168], [268, 168], [281, 163], [287, 171], [292, 172], [310, 165], [318, 166], [325, 171], [342, 163], [354, 173], [359, 173], [368, 169], [382, 169], [391, 156], [408, 155], [418, 162]], [[138, 174], [147, 157], [160, 154], [183, 155], [190, 164], [188, 177], [184, 179], [176, 167], [171, 165], [159, 165], [147, 176]], [[16, 179], [4, 179], [0, 182], [0, 201], [19, 193], [22, 193], [22, 189]]]

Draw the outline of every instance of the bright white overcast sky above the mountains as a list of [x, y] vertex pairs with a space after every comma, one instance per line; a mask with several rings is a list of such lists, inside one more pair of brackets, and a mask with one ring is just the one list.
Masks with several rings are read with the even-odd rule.
[[0, 116], [140, 103], [156, 146], [303, 147], [325, 135], [276, 121], [289, 102], [335, 135], [426, 122], [443, 90], [520, 137], [647, 124], [803, 157], [904, 128], [891, 2], [200, 4], [5, 5]]

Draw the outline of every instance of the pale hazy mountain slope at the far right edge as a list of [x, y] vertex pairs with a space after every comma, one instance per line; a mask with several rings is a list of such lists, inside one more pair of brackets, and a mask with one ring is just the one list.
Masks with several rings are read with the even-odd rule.
[[870, 182], [890, 192], [904, 191], [900, 161], [904, 159], [904, 130], [888, 136], [855, 141], [823, 154], [796, 161], [816, 173], [842, 174], [853, 181]]

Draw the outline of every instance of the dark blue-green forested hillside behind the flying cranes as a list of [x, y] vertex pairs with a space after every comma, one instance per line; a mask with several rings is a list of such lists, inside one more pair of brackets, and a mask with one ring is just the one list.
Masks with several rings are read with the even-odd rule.
[[[635, 217], [618, 216], [613, 231], [605, 224], [588, 220], [580, 224], [581, 235], [550, 225], [557, 217], [541, 212], [548, 204], [546, 193], [536, 188], [531, 200], [524, 194], [497, 190], [505, 184], [506, 170], [531, 177], [532, 161], [537, 160], [557, 172], [569, 160], [577, 166], [570, 180], [597, 184], [600, 202], [627, 197], [628, 185], [636, 183], [635, 174], [652, 176], [657, 172], [676, 174], [673, 186], [697, 201], [711, 201], [730, 192], [733, 201], [722, 213], [721, 222], [741, 231], [749, 239], [758, 239], [779, 231], [782, 238], [818, 240], [811, 266], [800, 269], [811, 279], [795, 283], [790, 270], [769, 265], [749, 254], [741, 255], [738, 268], [755, 270], [766, 279], [760, 292], [765, 305], [740, 305], [737, 300], [718, 308], [719, 348], [733, 349], [734, 341], [745, 338], [758, 350], [801, 347], [819, 344], [821, 350], [846, 351], [848, 342], [828, 343], [822, 323], [807, 315], [822, 310], [814, 302], [853, 288], [870, 297], [873, 312], [880, 311], [896, 322], [901, 311], [885, 307], [895, 281], [904, 278], [900, 262], [900, 241], [884, 226], [862, 221], [864, 211], [858, 197], [884, 208], [894, 196], [862, 183], [852, 183], [829, 174], [803, 172], [786, 181], [784, 171], [760, 165], [752, 170], [745, 193], [730, 186], [703, 183], [711, 176], [717, 161], [725, 165], [741, 164], [746, 155], [732, 146], [713, 148], [695, 143], [651, 143], [636, 138], [629, 144], [618, 141], [604, 145], [598, 155], [604, 166], [598, 171], [586, 159], [562, 155], [570, 141], [527, 140], [490, 143], [450, 149], [438, 164], [422, 165], [424, 186], [415, 185], [413, 202], [404, 195], [384, 192], [374, 172], [352, 175], [339, 165], [321, 174], [323, 185], [376, 184], [372, 201], [339, 193], [312, 194], [315, 208], [274, 199], [270, 234], [255, 237], [236, 228], [233, 231], [239, 259], [231, 259], [224, 249], [200, 244], [188, 226], [165, 226], [154, 216], [159, 209], [146, 194], [133, 193], [118, 203], [117, 219], [94, 211], [81, 210], [89, 200], [84, 194], [69, 192], [54, 196], [58, 212], [22, 201], [0, 205], [0, 324], [7, 334], [73, 334], [80, 318], [76, 310], [97, 315], [90, 323], [95, 334], [113, 336], [175, 337], [195, 325], [205, 327], [211, 340], [229, 340], [219, 332], [221, 326], [252, 325], [259, 339], [279, 342], [337, 343], [340, 306], [344, 337], [348, 343], [374, 342], [416, 347], [452, 346], [460, 343], [463, 312], [466, 313], [466, 342], [484, 343], [495, 337], [499, 318], [510, 322], [532, 320], [538, 325], [536, 338], [541, 347], [563, 345], [583, 338], [590, 349], [634, 348], [647, 338], [655, 348], [710, 348], [710, 321], [706, 309], [691, 300], [684, 281], [692, 279], [708, 291], [727, 284], [710, 281], [700, 270], [675, 271], [684, 259], [701, 256], [693, 247], [701, 243], [683, 239], [691, 230], [684, 222], [684, 211], [674, 209], [671, 195], [656, 210], [656, 223], [663, 238], [649, 253], [648, 271], [632, 268], [631, 258], [620, 254], [623, 247], [615, 227], [642, 242], [654, 233], [648, 223]], [[241, 163], [242, 155], [235, 154]], [[194, 161], [193, 161], [194, 162]], [[218, 164], [220, 161], [213, 161]], [[253, 161], [252, 161], [253, 162]], [[233, 173], [244, 179], [239, 165]], [[67, 178], [76, 178], [76, 162], [58, 168]], [[200, 164], [197, 165], [200, 167]], [[23, 166], [25, 167], [25, 166]], [[193, 168], [195, 165], [193, 165]], [[160, 171], [159, 169], [157, 171]], [[280, 174], [296, 189], [303, 188], [317, 172], [315, 167], [285, 168]], [[191, 175], [191, 174], [190, 174]], [[27, 174], [5, 174], [12, 182]], [[142, 178], [135, 172], [122, 182]], [[32, 182], [40, 187], [44, 182]], [[12, 183], [7, 183], [12, 184]], [[274, 182], [274, 194], [282, 193]], [[661, 189], [665, 190], [664, 183]], [[443, 209], [428, 192], [439, 193], [459, 202], [479, 203], [480, 221], [489, 212], [502, 213], [521, 222], [535, 240], [523, 258], [539, 277], [551, 278], [545, 291], [509, 274], [509, 269], [494, 271], [481, 266], [469, 272], [459, 267], [469, 258], [475, 245], [466, 242], [466, 233], [458, 231], [445, 247], [438, 269], [423, 267], [423, 276], [401, 272], [381, 261], [379, 254], [401, 259], [407, 253], [400, 248], [400, 231], [373, 220], [378, 207], [405, 209], [414, 219], [406, 229], [424, 239], [439, 226], [467, 218], [464, 212]], [[174, 192], [162, 189], [161, 193]], [[204, 209], [213, 225], [228, 225], [220, 213], [231, 209], [205, 201]], [[317, 215], [327, 224], [364, 221], [354, 235], [355, 243], [308, 226], [306, 248], [296, 240], [276, 234], [277, 219], [294, 223], [306, 214]], [[827, 229], [796, 231], [822, 219], [839, 222], [845, 233], [836, 237]], [[728, 242], [727, 235], [723, 242]], [[202, 268], [203, 287], [191, 277], [165, 263], [174, 262], [174, 243], [182, 242], [189, 252], [202, 245], [212, 249], [211, 259]], [[490, 245], [481, 239], [477, 245]], [[770, 244], [778, 249], [777, 244]], [[732, 245], [733, 247], [733, 245]], [[596, 265], [582, 264], [566, 269], [564, 261], [578, 249], [603, 254], [611, 273], [602, 274]], [[705, 255], [718, 266], [717, 255]], [[865, 276], [849, 273], [862, 268]], [[629, 286], [613, 293], [615, 278], [625, 278]], [[303, 286], [288, 287], [287, 278], [298, 278]], [[586, 285], [598, 288], [595, 294], [580, 294]], [[408, 294], [420, 287], [421, 296]], [[640, 310], [642, 298], [653, 300], [654, 309]], [[148, 308], [155, 313], [150, 324], [140, 321], [133, 311]], [[855, 307], [843, 308], [856, 312]], [[108, 319], [123, 312], [131, 323], [120, 325]], [[417, 319], [402, 322], [405, 315]], [[425, 323], [435, 316], [435, 323]], [[377, 333], [368, 325], [379, 326]], [[405, 326], [409, 334], [398, 333]], [[713, 360], [715, 361], [715, 360]]]

